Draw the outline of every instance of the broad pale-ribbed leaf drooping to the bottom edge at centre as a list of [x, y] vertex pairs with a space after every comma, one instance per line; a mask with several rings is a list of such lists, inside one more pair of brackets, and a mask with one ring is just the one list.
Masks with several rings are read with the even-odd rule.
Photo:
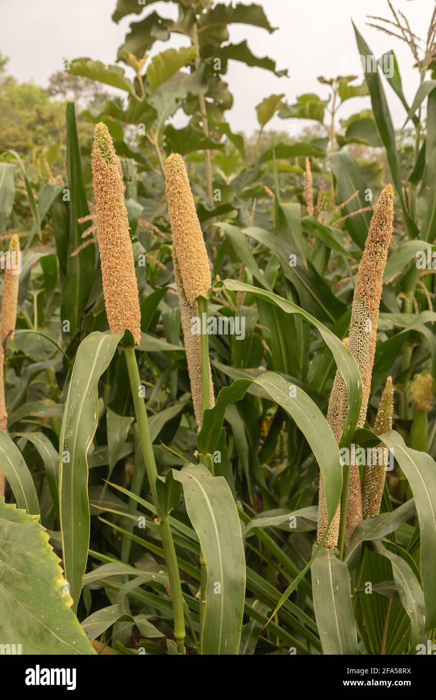
[[232, 491], [224, 477], [213, 477], [202, 464], [188, 464], [180, 481], [192, 527], [206, 561], [207, 587], [202, 652], [237, 654], [245, 598], [245, 554]]

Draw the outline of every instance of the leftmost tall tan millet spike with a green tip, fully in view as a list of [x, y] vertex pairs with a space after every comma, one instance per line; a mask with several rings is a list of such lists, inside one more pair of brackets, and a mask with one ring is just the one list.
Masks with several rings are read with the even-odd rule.
[[104, 302], [111, 332], [129, 330], [135, 343], [141, 340], [141, 311], [136, 282], [124, 185], [111, 134], [103, 123], [94, 129], [92, 177], [97, 202]]

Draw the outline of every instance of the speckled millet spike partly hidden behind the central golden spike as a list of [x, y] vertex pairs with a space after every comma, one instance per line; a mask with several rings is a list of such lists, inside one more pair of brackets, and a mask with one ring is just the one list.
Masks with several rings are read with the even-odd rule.
[[[198, 302], [197, 300], [195, 300], [193, 304], [190, 304], [186, 298], [180, 269], [178, 267], [178, 260], [176, 258], [174, 248], [173, 264], [174, 278], [176, 279], [176, 286], [178, 291], [178, 305], [180, 307], [183, 342], [185, 344], [186, 360], [188, 362], [188, 374], [191, 385], [192, 403], [194, 404], [195, 420], [197, 421], [197, 427], [199, 428], [202, 424], [202, 349], [200, 336], [198, 334], [194, 335], [192, 333], [192, 318], [198, 318], [199, 316]], [[211, 372], [210, 364], [209, 372]], [[211, 374], [209, 379], [209, 389], [210, 408], [213, 408], [213, 406], [215, 405], [215, 398], [213, 396], [213, 384]]]

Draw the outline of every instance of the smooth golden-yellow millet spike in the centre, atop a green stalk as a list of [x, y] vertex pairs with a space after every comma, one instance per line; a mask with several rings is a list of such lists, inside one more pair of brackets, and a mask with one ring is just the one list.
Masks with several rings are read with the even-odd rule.
[[171, 153], [164, 169], [173, 246], [189, 304], [211, 288], [211, 269], [185, 162]]

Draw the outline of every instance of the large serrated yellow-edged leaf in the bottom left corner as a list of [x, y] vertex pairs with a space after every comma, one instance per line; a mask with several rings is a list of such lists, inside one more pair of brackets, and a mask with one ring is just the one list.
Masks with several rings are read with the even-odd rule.
[[22, 654], [94, 654], [38, 516], [0, 498], [0, 539], [1, 642]]

